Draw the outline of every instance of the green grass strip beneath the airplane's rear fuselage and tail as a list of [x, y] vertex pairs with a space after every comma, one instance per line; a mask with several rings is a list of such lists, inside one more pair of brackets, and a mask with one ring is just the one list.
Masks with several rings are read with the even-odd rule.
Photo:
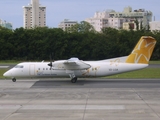
[[105, 78], [160, 78], [160, 68], [145, 68], [133, 72], [117, 74]]

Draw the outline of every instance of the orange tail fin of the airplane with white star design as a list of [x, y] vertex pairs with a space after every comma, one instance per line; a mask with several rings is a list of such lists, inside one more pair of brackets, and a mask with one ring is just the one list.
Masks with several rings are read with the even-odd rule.
[[128, 56], [126, 63], [148, 64], [155, 47], [156, 40], [150, 36], [142, 36], [132, 53]]

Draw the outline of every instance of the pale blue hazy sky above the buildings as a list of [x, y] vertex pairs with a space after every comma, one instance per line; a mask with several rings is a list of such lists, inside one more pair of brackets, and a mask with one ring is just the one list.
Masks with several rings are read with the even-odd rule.
[[[160, 21], [160, 0], [39, 0], [47, 7], [46, 24], [58, 27], [64, 19], [83, 21], [93, 17], [96, 11], [113, 9], [122, 12], [124, 7], [132, 10], [151, 11], [156, 21]], [[13, 28], [23, 27], [23, 9], [31, 0], [0, 0], [0, 19], [13, 24]]]

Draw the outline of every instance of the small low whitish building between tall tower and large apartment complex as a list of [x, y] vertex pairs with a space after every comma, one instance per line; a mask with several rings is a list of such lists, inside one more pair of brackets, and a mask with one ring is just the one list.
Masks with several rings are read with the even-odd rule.
[[64, 19], [64, 21], [62, 21], [58, 27], [63, 29], [63, 30], [68, 30], [70, 27], [72, 27], [73, 25], [77, 24], [77, 21], [73, 21], [73, 20], [69, 20], [69, 19]]

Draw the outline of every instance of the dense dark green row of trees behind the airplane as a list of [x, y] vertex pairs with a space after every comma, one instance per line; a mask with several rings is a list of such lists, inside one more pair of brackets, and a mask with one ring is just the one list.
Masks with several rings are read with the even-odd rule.
[[0, 28], [1, 60], [49, 60], [78, 57], [83, 60], [100, 60], [128, 55], [141, 36], [152, 36], [157, 40], [152, 60], [160, 60], [160, 31], [127, 31], [103, 28], [92, 31], [82, 23], [78, 31], [67, 32], [59, 28], [36, 27], [33, 29]]

